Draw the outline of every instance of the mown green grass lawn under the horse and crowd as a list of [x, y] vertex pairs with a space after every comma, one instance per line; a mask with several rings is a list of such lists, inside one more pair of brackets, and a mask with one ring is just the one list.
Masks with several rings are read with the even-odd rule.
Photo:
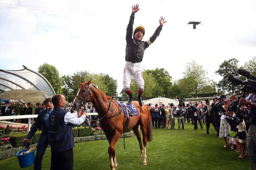
[[[206, 124], [203, 123], [204, 128]], [[178, 129], [178, 123], [175, 124]], [[147, 143], [147, 162], [142, 159], [136, 137], [119, 139], [116, 144], [118, 170], [250, 170], [248, 157], [238, 158], [240, 153], [224, 148], [224, 141], [216, 137], [210, 126], [210, 134], [206, 130], [194, 131], [193, 125], [185, 124], [185, 130], [153, 129], [153, 140]], [[92, 141], [76, 143], [74, 148], [74, 170], [108, 170], [108, 141]], [[19, 168], [16, 156], [0, 160], [1, 170]], [[32, 170], [33, 166], [22, 168]], [[42, 169], [50, 169], [50, 148], [46, 150]]]

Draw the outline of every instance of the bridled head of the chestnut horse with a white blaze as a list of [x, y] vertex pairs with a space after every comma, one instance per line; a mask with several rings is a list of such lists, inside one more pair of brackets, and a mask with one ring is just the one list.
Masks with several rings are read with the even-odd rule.
[[92, 79], [84, 83], [79, 82], [80, 88], [72, 104], [72, 107], [74, 107], [76, 110], [79, 110], [84, 104], [91, 101], [92, 99], [92, 94], [90, 92], [90, 88], [92, 86], [91, 81]]

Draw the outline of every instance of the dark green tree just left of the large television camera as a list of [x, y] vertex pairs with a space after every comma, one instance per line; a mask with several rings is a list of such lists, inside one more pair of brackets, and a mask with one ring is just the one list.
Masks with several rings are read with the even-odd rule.
[[223, 76], [222, 80], [218, 82], [218, 87], [222, 91], [226, 92], [236, 92], [235, 86], [232, 84], [232, 82], [228, 81], [228, 76], [230, 74], [234, 74], [235, 76], [238, 76], [236, 73], [236, 70], [238, 68], [238, 60], [235, 58], [229, 59], [229, 60], [224, 60], [223, 63], [220, 64], [219, 69], [216, 70], [216, 74], [219, 74], [220, 76]]

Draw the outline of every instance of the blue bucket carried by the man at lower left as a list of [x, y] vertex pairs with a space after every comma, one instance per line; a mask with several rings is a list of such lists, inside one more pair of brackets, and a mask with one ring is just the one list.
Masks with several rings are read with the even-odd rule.
[[34, 157], [35, 157], [35, 150], [34, 149], [33, 151], [31, 152], [28, 152], [26, 154], [22, 154], [22, 152], [26, 152], [28, 149], [24, 149], [24, 150], [20, 150], [16, 156], [18, 157], [18, 160], [19, 160], [19, 164], [20, 164], [20, 168], [25, 168], [25, 167], [28, 167], [32, 164], [34, 164]]

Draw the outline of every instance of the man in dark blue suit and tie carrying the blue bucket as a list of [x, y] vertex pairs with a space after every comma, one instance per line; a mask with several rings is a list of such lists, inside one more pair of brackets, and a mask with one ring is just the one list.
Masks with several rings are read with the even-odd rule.
[[[42, 109], [38, 113], [38, 117], [36, 122], [32, 125], [28, 135], [26, 138], [22, 140], [23, 143], [28, 142], [36, 133], [37, 129], [42, 129], [42, 133], [39, 137], [36, 151], [36, 158], [34, 163], [34, 170], [41, 170], [42, 167], [42, 159], [44, 156], [44, 152], [48, 146], [48, 115], [53, 109], [52, 99], [46, 98], [44, 100], [44, 105], [46, 109]], [[46, 121], [47, 120], [47, 121]]]

